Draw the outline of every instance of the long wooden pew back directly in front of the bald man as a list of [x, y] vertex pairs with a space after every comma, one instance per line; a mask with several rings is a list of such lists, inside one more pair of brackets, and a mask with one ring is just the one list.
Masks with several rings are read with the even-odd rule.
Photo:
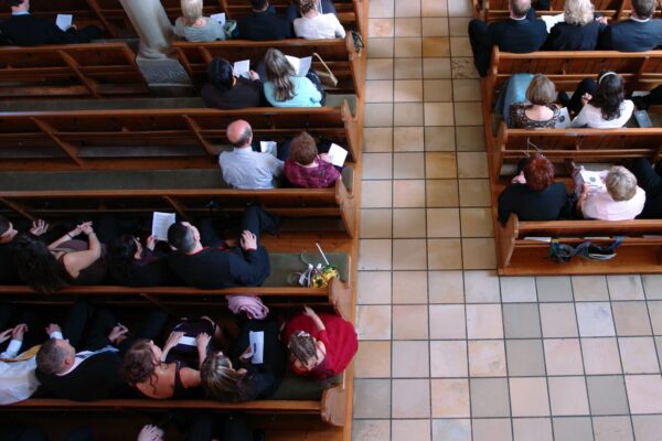
[[[0, 50], [1, 51], [1, 50]], [[357, 161], [357, 120], [340, 107], [0, 112], [0, 170], [216, 168], [225, 128], [246, 119], [256, 139], [307, 130]]]

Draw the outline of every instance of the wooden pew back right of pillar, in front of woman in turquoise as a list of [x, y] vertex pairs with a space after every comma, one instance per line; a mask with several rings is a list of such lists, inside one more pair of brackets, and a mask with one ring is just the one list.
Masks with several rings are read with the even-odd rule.
[[[275, 40], [254, 42], [247, 40], [228, 40], [224, 42], [191, 43], [174, 42], [181, 64], [186, 69], [193, 82], [201, 86], [206, 83], [206, 66], [214, 56], [226, 58], [231, 63], [250, 60], [253, 63], [261, 61], [269, 47], [282, 51], [286, 55], [303, 57], [317, 52], [327, 63], [333, 75], [339, 80], [337, 89], [329, 92], [352, 93], [363, 96], [364, 72], [362, 69], [362, 55], [356, 53], [354, 40], [350, 33], [345, 39], [331, 40]], [[323, 71], [319, 62], [313, 58], [312, 68]]]

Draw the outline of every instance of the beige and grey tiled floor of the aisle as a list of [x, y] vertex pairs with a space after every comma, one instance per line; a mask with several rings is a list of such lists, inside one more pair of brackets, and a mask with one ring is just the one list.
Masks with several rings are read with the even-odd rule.
[[354, 441], [662, 440], [662, 277], [498, 278], [470, 0], [370, 0]]

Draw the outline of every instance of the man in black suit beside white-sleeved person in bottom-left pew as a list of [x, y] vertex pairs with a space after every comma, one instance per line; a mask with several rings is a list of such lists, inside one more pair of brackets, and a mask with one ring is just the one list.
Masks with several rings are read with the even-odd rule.
[[[110, 311], [94, 311], [86, 302], [76, 302], [62, 331], [53, 323], [46, 327], [51, 340], [36, 354], [36, 378], [55, 396], [77, 401], [129, 395], [131, 389], [120, 373], [120, 351], [136, 338], [158, 338], [167, 320], [163, 312], [154, 311], [138, 335], [128, 336], [127, 327]], [[75, 346], [84, 351], [76, 352]]]

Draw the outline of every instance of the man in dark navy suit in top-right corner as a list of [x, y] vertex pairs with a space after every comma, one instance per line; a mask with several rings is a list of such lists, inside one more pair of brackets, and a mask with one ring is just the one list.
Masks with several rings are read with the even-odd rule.
[[611, 23], [602, 31], [598, 49], [621, 52], [652, 51], [662, 45], [662, 20], [654, 20], [655, 0], [632, 0], [628, 20]]

